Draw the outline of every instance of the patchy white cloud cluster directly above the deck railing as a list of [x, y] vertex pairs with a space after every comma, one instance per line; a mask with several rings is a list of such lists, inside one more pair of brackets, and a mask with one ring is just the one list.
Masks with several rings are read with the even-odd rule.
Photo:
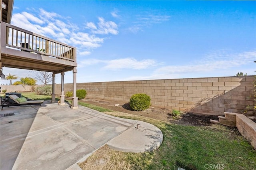
[[97, 26], [88, 22], [87, 28], [92, 30], [93, 34], [83, 32], [79, 26], [70, 22], [69, 17], [63, 17], [55, 12], [47, 12], [40, 8], [31, 13], [14, 13], [12, 24], [29, 30], [36, 34], [52, 38], [54, 40], [77, 47], [78, 54], [89, 55], [90, 50], [98, 48], [104, 43], [104, 37], [99, 38], [95, 34], [118, 34], [117, 25], [112, 21], [105, 21], [99, 17]]

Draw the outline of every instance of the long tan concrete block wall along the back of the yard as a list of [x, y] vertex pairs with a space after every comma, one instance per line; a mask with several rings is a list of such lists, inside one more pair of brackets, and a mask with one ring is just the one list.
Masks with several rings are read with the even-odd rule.
[[[78, 83], [77, 89], [86, 89], [88, 98], [122, 102], [129, 102], [133, 94], [146, 93], [154, 107], [223, 115], [224, 112], [244, 113], [248, 105], [254, 104], [250, 97], [253, 81], [254, 76], [114, 81]], [[55, 89], [60, 94], [60, 84]], [[72, 83], [64, 85], [65, 93], [72, 89]]]

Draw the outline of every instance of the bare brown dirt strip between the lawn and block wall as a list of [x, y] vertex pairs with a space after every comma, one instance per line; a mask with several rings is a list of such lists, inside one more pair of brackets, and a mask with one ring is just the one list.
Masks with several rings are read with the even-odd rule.
[[[192, 125], [192, 126], [209, 126], [211, 125], [210, 119], [218, 120], [218, 116], [211, 115], [196, 115], [194, 113], [183, 113], [180, 118], [175, 118], [170, 115], [171, 110], [156, 107], [150, 107], [145, 111], [132, 111], [130, 105], [125, 102], [107, 101], [101, 99], [82, 99], [81, 102], [89, 103], [92, 105], [104, 107], [113, 111], [129, 113], [132, 115], [149, 117], [160, 121], [175, 123], [178, 125]], [[115, 106], [118, 105], [118, 106]]]

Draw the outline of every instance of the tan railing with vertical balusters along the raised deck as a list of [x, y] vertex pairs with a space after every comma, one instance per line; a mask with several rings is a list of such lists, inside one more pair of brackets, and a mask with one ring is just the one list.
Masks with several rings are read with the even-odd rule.
[[[76, 62], [76, 48], [1, 22], [6, 47]], [[1, 40], [1, 45], [4, 40]]]

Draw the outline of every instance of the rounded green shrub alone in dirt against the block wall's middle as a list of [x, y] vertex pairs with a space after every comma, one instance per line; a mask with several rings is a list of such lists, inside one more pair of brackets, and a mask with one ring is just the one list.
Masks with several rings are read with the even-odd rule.
[[150, 107], [150, 97], [146, 94], [134, 94], [130, 98], [130, 108], [134, 111], [144, 111]]

